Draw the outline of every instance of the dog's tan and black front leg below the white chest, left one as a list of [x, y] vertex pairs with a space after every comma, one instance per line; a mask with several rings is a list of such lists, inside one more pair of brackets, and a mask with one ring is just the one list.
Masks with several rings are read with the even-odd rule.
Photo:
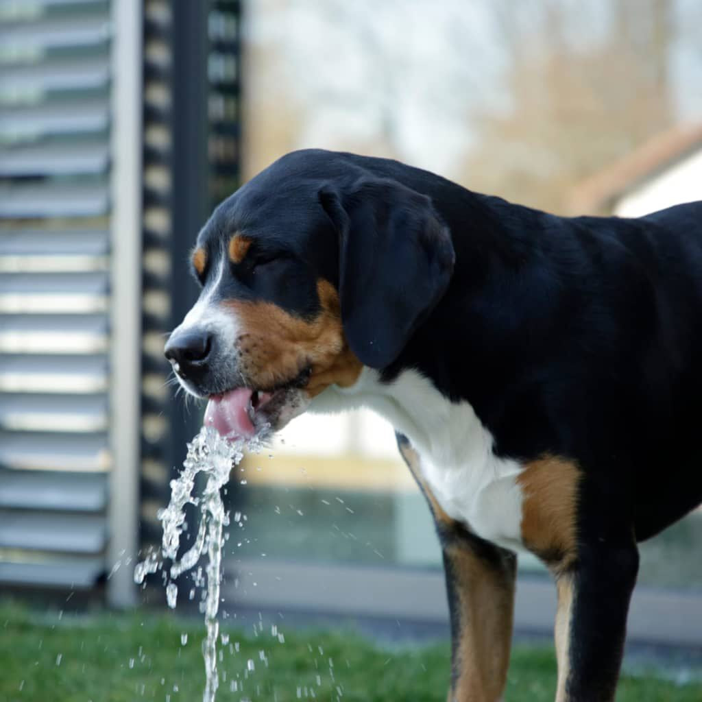
[[409, 441], [397, 435], [405, 463], [423, 491], [442, 543], [451, 612], [449, 702], [498, 702], [507, 680], [517, 558], [471, 534], [435, 500]]

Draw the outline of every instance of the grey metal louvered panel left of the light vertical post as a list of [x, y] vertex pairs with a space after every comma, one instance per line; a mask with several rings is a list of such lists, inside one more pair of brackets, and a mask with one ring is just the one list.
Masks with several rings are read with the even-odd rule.
[[0, 583], [109, 570], [111, 12], [0, 0]]

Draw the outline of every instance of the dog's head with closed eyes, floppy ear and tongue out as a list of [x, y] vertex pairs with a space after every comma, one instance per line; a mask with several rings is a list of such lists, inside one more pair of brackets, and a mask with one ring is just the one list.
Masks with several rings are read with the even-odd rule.
[[446, 290], [453, 247], [425, 195], [303, 151], [220, 204], [191, 262], [202, 290], [166, 357], [234, 437], [282, 428], [329, 385], [395, 361]]

